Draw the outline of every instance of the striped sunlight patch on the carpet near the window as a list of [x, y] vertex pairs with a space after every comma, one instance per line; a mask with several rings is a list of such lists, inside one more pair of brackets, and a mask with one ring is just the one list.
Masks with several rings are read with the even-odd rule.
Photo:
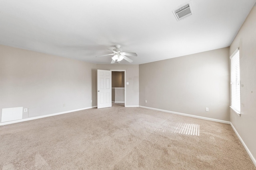
[[199, 136], [199, 129], [200, 125], [197, 124], [179, 123], [172, 133]]

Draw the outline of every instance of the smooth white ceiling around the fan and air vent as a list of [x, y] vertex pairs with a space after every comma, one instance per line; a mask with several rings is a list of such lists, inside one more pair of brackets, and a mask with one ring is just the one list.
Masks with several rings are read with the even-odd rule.
[[[0, 44], [109, 64], [119, 44], [132, 64], [229, 47], [256, 0], [0, 0]], [[129, 64], [121, 61], [121, 64]]]

